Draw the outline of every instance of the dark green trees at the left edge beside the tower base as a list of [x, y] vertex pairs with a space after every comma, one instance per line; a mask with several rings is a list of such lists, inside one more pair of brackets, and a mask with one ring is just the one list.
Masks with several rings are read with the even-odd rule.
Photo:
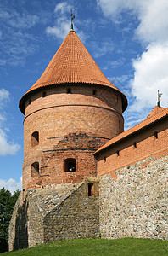
[[8, 225], [19, 195], [20, 190], [12, 195], [7, 189], [0, 189], [0, 253], [8, 251]]

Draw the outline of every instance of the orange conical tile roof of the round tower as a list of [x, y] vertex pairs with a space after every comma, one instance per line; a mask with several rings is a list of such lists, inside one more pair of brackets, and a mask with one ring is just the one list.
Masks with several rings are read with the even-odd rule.
[[[120, 92], [114, 84], [109, 82], [100, 70], [92, 56], [88, 53], [76, 32], [70, 31], [58, 51], [49, 62], [40, 79], [28, 90], [20, 100], [20, 110], [24, 113], [25, 98], [33, 90], [56, 84], [100, 84], [109, 86]], [[120, 92], [123, 111], [127, 107], [126, 96]]]

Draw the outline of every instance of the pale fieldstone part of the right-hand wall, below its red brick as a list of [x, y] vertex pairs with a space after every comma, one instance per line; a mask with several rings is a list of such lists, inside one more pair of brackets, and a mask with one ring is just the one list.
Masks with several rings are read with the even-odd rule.
[[168, 157], [147, 158], [100, 177], [100, 232], [103, 238], [125, 236], [168, 239]]

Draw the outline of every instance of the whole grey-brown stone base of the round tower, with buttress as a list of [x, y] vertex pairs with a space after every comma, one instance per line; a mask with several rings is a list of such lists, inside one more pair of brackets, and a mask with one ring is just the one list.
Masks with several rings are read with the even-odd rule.
[[[88, 183], [93, 184], [88, 196]], [[84, 183], [59, 184], [28, 189], [16, 202], [9, 226], [9, 250], [32, 247], [47, 241], [97, 237], [99, 198], [96, 178]]]

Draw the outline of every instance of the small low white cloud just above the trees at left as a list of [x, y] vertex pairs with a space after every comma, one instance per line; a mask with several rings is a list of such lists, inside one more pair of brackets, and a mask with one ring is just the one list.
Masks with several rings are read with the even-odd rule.
[[7, 181], [0, 179], [0, 189], [3, 189], [3, 187], [7, 190], [9, 190], [12, 194], [17, 189], [21, 190], [22, 187], [22, 177], [20, 177], [20, 181], [16, 181], [14, 178], [9, 178]]

